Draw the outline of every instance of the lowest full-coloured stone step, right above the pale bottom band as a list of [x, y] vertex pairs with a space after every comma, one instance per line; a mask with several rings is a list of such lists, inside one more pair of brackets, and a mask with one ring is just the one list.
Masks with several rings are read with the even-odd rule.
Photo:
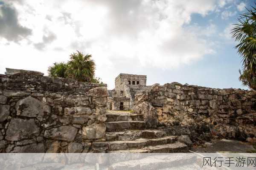
[[111, 150], [110, 153], [187, 153], [188, 146], [181, 142], [147, 146], [141, 149]]

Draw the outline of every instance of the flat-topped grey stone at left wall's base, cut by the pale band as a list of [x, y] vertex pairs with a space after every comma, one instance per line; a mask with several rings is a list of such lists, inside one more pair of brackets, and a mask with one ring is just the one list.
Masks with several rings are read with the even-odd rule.
[[26, 146], [16, 146], [11, 153], [44, 153], [44, 144], [29, 144]]

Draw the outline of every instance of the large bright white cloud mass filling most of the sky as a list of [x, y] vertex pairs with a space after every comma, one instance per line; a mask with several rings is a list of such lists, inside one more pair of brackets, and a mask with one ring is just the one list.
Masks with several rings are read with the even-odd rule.
[[[32, 29], [33, 34], [20, 45], [0, 43], [3, 54], [15, 49], [3, 62], [1, 59], [0, 71], [11, 67], [46, 73], [49, 65], [67, 61], [69, 54], [76, 50], [93, 55], [96, 76], [102, 77], [111, 88], [113, 78], [126, 68], [134, 73], [140, 68], [178, 68], [214, 52], [207, 41], [207, 37], [216, 33], [214, 24], [187, 26], [192, 14], [206, 16], [220, 6], [218, 3], [218, 0], [23, 0], [13, 3], [19, 23]], [[224, 17], [231, 15], [224, 14]], [[22, 60], [17, 56], [22, 56]]]

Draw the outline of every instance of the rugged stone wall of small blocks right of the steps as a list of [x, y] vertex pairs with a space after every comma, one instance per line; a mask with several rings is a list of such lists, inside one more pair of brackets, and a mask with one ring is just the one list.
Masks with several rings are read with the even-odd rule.
[[211, 137], [256, 142], [256, 91], [153, 85], [136, 95], [134, 110], [152, 126], [207, 127]]

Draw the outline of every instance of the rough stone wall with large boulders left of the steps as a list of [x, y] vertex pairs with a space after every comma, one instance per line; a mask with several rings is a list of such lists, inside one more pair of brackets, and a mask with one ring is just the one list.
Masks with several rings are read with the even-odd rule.
[[87, 153], [105, 141], [105, 84], [0, 74], [0, 153]]

